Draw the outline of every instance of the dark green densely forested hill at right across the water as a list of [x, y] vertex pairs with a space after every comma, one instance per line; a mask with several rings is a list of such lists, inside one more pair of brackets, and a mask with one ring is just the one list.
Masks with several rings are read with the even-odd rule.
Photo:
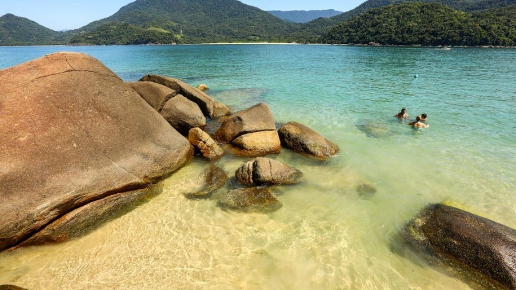
[[320, 42], [514, 46], [515, 13], [516, 6], [466, 13], [441, 4], [406, 2], [370, 9], [342, 22]]

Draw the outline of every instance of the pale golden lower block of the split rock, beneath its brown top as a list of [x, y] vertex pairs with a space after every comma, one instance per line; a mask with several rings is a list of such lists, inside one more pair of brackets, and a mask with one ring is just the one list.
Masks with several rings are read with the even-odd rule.
[[281, 151], [280, 137], [277, 131], [260, 131], [241, 135], [231, 141], [238, 149], [239, 155], [263, 156]]

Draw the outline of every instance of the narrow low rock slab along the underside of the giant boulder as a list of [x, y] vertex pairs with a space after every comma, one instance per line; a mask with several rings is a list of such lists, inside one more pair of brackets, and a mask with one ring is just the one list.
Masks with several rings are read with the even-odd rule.
[[163, 188], [158, 184], [90, 202], [55, 220], [17, 247], [62, 243], [84, 236], [106, 221], [130, 212], [162, 191]]

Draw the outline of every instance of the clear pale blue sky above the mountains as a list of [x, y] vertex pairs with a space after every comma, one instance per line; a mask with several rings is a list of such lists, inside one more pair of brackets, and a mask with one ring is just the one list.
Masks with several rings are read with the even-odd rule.
[[[75, 29], [115, 14], [135, 0], [1, 0], [0, 16], [25, 17], [54, 29]], [[349, 11], [366, 0], [241, 0], [262, 10]]]

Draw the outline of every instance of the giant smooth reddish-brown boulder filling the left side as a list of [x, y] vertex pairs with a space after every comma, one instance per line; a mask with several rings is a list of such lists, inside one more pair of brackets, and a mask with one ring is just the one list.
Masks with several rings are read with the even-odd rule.
[[193, 148], [98, 60], [56, 53], [0, 71], [0, 250], [90, 202], [145, 188]]

